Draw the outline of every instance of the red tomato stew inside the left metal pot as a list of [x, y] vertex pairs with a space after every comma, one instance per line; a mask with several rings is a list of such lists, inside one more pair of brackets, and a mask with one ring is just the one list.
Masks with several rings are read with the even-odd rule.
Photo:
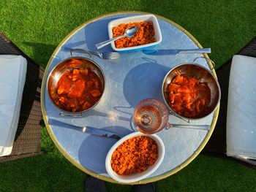
[[99, 101], [102, 82], [95, 72], [79, 68], [64, 72], [56, 88], [50, 89], [50, 97], [59, 108], [69, 112], [81, 112]]

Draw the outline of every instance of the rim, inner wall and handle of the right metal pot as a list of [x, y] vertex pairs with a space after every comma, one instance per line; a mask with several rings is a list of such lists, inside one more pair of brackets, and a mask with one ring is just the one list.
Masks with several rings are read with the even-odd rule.
[[[215, 67], [214, 62], [211, 61], [211, 59], [206, 58], [206, 60], [210, 60], [214, 64], [214, 67], [211, 70], [209, 70], [206, 67], [201, 66], [200, 64], [195, 64], [194, 62], [196, 59], [197, 58], [194, 59], [193, 63], [179, 64], [178, 66], [173, 67], [173, 69], [170, 69], [170, 71], [166, 74], [165, 79], [162, 82], [162, 96], [164, 98], [165, 104], [170, 110], [170, 113], [173, 113], [173, 115], [183, 120], [186, 120], [187, 122], [189, 122], [189, 120], [198, 120], [200, 118], [205, 118], [207, 115], [211, 114], [211, 112], [216, 110], [221, 95], [219, 82], [211, 72], [211, 70]], [[173, 80], [173, 77], [176, 77], [176, 75], [178, 74], [186, 74], [189, 77], [196, 77], [200, 82], [207, 82], [208, 87], [211, 89], [211, 101], [210, 104], [208, 104], [205, 112], [202, 112], [194, 117], [188, 117], [178, 114], [175, 110], [172, 109], [172, 107], [169, 106], [168, 85]]]

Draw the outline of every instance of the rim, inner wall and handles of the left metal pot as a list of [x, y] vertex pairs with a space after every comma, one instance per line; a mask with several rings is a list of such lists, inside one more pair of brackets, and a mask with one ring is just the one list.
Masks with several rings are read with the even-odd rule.
[[[72, 56], [72, 51], [74, 50], [81, 50], [85, 53], [88, 53], [90, 55], [90, 58], [84, 58], [84, 57], [73, 57]], [[91, 108], [95, 107], [99, 100], [102, 98], [102, 95], [104, 93], [105, 90], [105, 76], [102, 72], [102, 69], [99, 67], [98, 64], [96, 64], [94, 61], [91, 60], [91, 53], [89, 53], [86, 50], [83, 49], [72, 49], [70, 50], [70, 58], [65, 59], [64, 61], [61, 61], [59, 64], [57, 64], [50, 72], [49, 76], [48, 76], [48, 80], [47, 80], [47, 93], [48, 96], [50, 98], [51, 103], [53, 104], [54, 107], [58, 108], [59, 110], [61, 110], [61, 112], [59, 113], [59, 115], [64, 115], [64, 116], [72, 116], [72, 117], [81, 117], [83, 115], [83, 112], [86, 112], [88, 110], [91, 110]], [[74, 60], [78, 61], [73, 62]], [[62, 74], [64, 74], [65, 72], [72, 70], [72, 69], [80, 69], [80, 67], [83, 67], [85, 69], [89, 69], [89, 71], [95, 72], [97, 74], [97, 76], [99, 77], [100, 82], [102, 83], [102, 94], [99, 98], [99, 100], [92, 105], [91, 107], [89, 107], [87, 110], [83, 110], [80, 112], [70, 112], [64, 109], [61, 109], [59, 106], [57, 106], [54, 102], [52, 97], [50, 96], [50, 91], [56, 91], [56, 85], [60, 79], [60, 77], [62, 76]]]

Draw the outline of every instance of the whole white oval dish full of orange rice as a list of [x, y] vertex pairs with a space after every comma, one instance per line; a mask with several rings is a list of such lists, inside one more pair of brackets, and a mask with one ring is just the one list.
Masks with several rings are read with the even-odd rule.
[[108, 174], [121, 183], [133, 183], [152, 174], [165, 156], [165, 146], [156, 134], [135, 132], [116, 142], [108, 152]]

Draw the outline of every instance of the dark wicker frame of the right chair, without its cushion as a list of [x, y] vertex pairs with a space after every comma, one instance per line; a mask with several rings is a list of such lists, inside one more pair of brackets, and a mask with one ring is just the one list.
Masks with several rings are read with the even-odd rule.
[[[247, 55], [251, 57], [256, 57], [256, 37], [249, 42], [243, 49], [241, 49], [237, 55]], [[228, 85], [230, 77], [230, 67], [232, 58], [225, 62], [222, 66], [217, 69], [217, 77], [219, 80], [219, 85], [222, 91], [222, 98], [220, 101], [219, 118], [217, 120], [217, 125], [214, 128], [214, 132], [211, 135], [206, 147], [203, 152], [206, 154], [219, 155], [222, 157], [227, 157], [226, 153], [226, 120], [227, 120], [227, 94]], [[229, 157], [228, 157], [229, 158]], [[241, 158], [230, 158], [235, 161], [239, 161], [246, 164], [253, 169], [256, 169], [256, 161], [246, 160]]]

